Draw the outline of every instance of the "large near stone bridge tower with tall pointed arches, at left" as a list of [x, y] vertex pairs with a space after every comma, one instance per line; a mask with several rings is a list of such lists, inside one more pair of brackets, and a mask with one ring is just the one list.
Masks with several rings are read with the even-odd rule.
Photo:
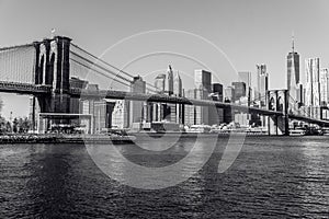
[[37, 96], [41, 113], [69, 113], [70, 42], [68, 37], [55, 36], [35, 43], [35, 84], [52, 88], [48, 96]]

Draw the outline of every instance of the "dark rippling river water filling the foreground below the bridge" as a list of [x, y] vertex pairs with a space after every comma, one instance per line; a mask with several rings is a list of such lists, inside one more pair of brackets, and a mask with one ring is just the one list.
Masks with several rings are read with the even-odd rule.
[[[166, 166], [183, 159], [194, 140], [166, 150], [161, 139], [145, 141], [158, 151], [116, 149], [134, 163]], [[162, 189], [109, 177], [84, 145], [0, 145], [0, 218], [329, 218], [328, 140], [248, 137], [234, 164], [217, 173], [227, 141], [219, 138], [200, 171]], [[209, 147], [207, 138], [201, 143]], [[203, 155], [201, 150], [193, 158]]]

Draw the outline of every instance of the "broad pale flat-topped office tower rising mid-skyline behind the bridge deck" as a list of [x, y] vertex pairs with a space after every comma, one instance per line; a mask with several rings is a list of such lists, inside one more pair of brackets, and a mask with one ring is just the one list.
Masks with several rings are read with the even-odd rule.
[[[195, 99], [208, 100], [212, 91], [212, 73], [205, 70], [194, 71]], [[195, 125], [209, 124], [209, 107], [195, 106]]]

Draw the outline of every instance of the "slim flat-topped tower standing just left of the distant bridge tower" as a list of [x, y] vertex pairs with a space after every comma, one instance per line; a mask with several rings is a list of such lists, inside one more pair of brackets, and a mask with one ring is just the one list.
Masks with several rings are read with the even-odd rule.
[[264, 64], [257, 65], [257, 90], [258, 90], [258, 100], [260, 106], [266, 106], [266, 92], [269, 90], [269, 74], [266, 72], [266, 66]]

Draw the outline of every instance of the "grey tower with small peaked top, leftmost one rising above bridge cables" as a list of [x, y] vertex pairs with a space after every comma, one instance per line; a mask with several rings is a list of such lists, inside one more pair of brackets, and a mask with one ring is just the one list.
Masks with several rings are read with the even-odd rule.
[[[146, 82], [141, 79], [140, 76], [134, 77], [133, 82], [131, 83], [131, 92], [133, 93], [145, 93], [146, 92]], [[129, 125], [133, 123], [141, 123], [143, 117], [143, 101], [132, 101], [131, 102], [131, 113], [129, 113]]]

